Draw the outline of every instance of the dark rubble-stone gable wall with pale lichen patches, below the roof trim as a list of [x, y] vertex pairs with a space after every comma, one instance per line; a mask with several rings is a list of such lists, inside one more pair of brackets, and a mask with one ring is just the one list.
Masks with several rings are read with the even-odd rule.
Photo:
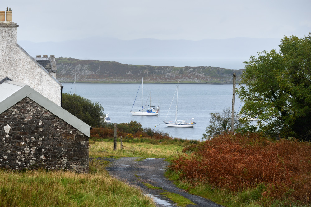
[[0, 126], [0, 168], [88, 173], [88, 137], [30, 98], [3, 112]]

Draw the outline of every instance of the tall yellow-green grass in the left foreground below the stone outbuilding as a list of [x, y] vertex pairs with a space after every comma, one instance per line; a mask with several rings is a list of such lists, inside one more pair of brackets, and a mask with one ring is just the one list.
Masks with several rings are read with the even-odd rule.
[[0, 170], [0, 206], [155, 206], [140, 190], [106, 174]]

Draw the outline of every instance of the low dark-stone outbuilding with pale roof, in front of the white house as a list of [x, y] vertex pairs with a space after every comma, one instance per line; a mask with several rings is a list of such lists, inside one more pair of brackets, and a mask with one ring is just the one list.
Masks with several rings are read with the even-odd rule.
[[0, 91], [0, 168], [88, 172], [89, 125], [26, 84]]

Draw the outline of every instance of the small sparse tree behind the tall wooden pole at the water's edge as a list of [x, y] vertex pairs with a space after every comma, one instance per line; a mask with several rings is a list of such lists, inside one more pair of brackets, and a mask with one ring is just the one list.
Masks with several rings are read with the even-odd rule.
[[[215, 135], [220, 135], [224, 132], [231, 130], [232, 123], [232, 110], [230, 108], [224, 109], [221, 113], [210, 113], [211, 120], [210, 125], [206, 127], [206, 132], [203, 134], [203, 138], [211, 138]], [[240, 120], [237, 120], [237, 113], [234, 115], [234, 131], [241, 128], [243, 124]]]

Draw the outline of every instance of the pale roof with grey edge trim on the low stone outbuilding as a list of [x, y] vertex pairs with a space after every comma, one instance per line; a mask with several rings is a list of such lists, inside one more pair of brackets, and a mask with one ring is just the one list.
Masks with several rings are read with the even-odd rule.
[[2, 84], [0, 84], [0, 91], [0, 114], [16, 104], [18, 101], [21, 101], [23, 98], [29, 97], [31, 100], [35, 101], [54, 115], [58, 116], [60, 119], [63, 119], [65, 122], [90, 137], [89, 125], [62, 107], [58, 106], [53, 101], [50, 101], [30, 86], [15, 81], [5, 80]]

